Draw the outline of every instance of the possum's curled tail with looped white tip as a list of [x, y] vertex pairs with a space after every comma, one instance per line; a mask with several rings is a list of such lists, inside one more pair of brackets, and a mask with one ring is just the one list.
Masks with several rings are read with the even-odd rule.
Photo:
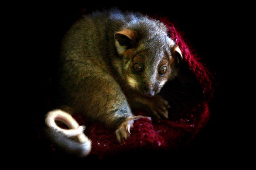
[[[69, 129], [59, 127], [56, 121], [64, 123]], [[52, 110], [47, 113], [45, 123], [46, 135], [57, 147], [78, 157], [85, 157], [90, 153], [91, 140], [83, 133], [85, 126], [80, 126], [69, 113], [61, 109]]]

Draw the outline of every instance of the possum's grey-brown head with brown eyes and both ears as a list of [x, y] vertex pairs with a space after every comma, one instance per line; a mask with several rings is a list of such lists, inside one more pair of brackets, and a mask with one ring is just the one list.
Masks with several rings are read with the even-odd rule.
[[[143, 27], [143, 25], [142, 25]], [[151, 27], [150, 27], [151, 28]], [[153, 29], [152, 29], [153, 28]], [[115, 64], [130, 88], [152, 97], [178, 74], [182, 60], [179, 47], [158, 27], [123, 29], [114, 35], [121, 64]]]

